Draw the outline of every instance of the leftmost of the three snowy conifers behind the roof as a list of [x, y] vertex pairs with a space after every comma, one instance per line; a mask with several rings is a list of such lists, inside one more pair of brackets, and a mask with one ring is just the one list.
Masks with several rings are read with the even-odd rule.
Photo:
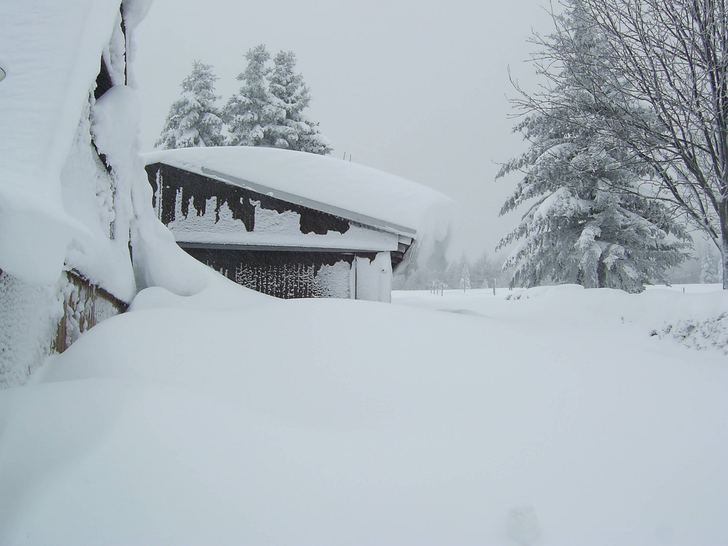
[[221, 146], [222, 119], [215, 108], [215, 80], [213, 67], [192, 63], [192, 73], [182, 82], [182, 96], [175, 100], [167, 115], [165, 127], [157, 148], [191, 148], [193, 146]]

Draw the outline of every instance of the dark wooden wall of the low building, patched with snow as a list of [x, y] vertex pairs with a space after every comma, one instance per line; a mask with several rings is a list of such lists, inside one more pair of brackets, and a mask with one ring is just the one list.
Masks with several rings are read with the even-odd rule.
[[[336, 238], [325, 239], [325, 237], [331, 237], [332, 232], [336, 237], [338, 234], [346, 234], [352, 226], [357, 226], [357, 229], [361, 230], [363, 229], [359, 227], [361, 224], [163, 163], [146, 165], [146, 173], [153, 189], [152, 205], [157, 210], [157, 216], [162, 223], [172, 228], [175, 239], [183, 250], [230, 280], [270, 296], [356, 298], [357, 269], [363, 267], [365, 263], [372, 263], [379, 252], [388, 253], [394, 268], [402, 261], [403, 254], [408, 248], [408, 245], [401, 242], [397, 244], [396, 235], [381, 232], [370, 226], [363, 228], [368, 229], [368, 233], [376, 237], [376, 245], [381, 244], [381, 237], [388, 237], [389, 240], [395, 237], [394, 246], [388, 250], [384, 250], [386, 247], [383, 247], [377, 251], [369, 248], [366, 250], [328, 248], [328, 245], [333, 245]], [[173, 227], [186, 221], [187, 218], [194, 218], [195, 215], [202, 217], [213, 215], [214, 221], [211, 220], [205, 225], [211, 230], [210, 240], [215, 240], [212, 234], [218, 233], [215, 230], [220, 229], [218, 222], [221, 220], [223, 206], [229, 209], [226, 218], [232, 214], [232, 220], [239, 221], [242, 233], [266, 232], [265, 226], [259, 226], [256, 230], [256, 210], [270, 210], [278, 214], [296, 213], [300, 216], [298, 231], [304, 236], [313, 237], [312, 234], [321, 236], [321, 240], [317, 240], [316, 243], [320, 245], [323, 242], [323, 247], [200, 242], [199, 239], [189, 238], [189, 232], [178, 231], [179, 228]], [[208, 210], [210, 207], [214, 207], [214, 210]], [[291, 229], [295, 231], [296, 227]], [[202, 233], [207, 234], [207, 232]], [[195, 234], [199, 237], [197, 232]], [[202, 241], [204, 240], [203, 237]], [[336, 241], [336, 244], [343, 244]], [[411, 242], [411, 239], [408, 241]], [[312, 245], [312, 240], [308, 240], [308, 244]], [[352, 264], [360, 266], [357, 268]]]

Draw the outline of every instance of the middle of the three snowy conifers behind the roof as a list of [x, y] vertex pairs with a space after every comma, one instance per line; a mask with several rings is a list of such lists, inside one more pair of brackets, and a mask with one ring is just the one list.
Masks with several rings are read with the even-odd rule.
[[[260, 44], [245, 54], [248, 66], [237, 79], [240, 90], [229, 98], [223, 108], [223, 120], [228, 136], [226, 146], [275, 146], [277, 136], [272, 127], [285, 119], [285, 106], [269, 90], [266, 66], [270, 54]], [[284, 146], [285, 147], [285, 146]]]

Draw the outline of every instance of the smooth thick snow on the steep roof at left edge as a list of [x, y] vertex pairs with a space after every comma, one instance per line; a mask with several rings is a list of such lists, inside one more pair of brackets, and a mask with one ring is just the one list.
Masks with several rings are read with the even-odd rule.
[[84, 231], [60, 171], [118, 17], [119, 0], [0, 3], [0, 269], [26, 280], [55, 282]]

